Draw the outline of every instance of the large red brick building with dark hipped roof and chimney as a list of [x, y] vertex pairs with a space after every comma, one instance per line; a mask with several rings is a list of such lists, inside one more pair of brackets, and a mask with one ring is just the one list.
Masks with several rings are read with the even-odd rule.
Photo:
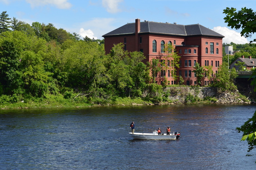
[[[175, 52], [180, 56], [180, 67], [176, 68], [176, 75], [181, 75], [186, 85], [196, 83], [196, 77], [192, 72], [196, 62], [200, 66], [212, 66], [212, 76], [217, 73], [218, 67], [222, 64], [224, 36], [199, 24], [140, 22], [140, 19], [136, 19], [135, 23], [127, 23], [102, 37], [105, 38], [106, 53], [110, 52], [113, 44], [124, 43], [125, 50], [143, 52], [146, 56], [145, 63], [153, 58], [159, 60], [165, 58], [167, 54], [163, 47], [166, 44], [172, 44]], [[161, 84], [163, 77], [167, 79], [167, 84], [178, 83], [178, 80], [175, 82], [171, 77], [173, 69], [169, 62], [168, 60], [166, 64], [169, 68], [166, 71], [161, 70], [155, 77], [158, 84]], [[211, 80], [206, 77], [204, 82], [208, 85]]]

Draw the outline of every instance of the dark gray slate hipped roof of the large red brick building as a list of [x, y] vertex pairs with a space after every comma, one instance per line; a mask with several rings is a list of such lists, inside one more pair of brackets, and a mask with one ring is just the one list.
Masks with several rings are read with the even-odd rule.
[[[193, 36], [193, 35], [205, 35], [214, 37], [224, 37], [223, 35], [212, 31], [200, 24], [193, 25], [179, 25], [171, 23], [144, 21], [141, 23], [141, 29], [139, 34], [151, 33], [151, 34], [165, 34], [165, 35], [178, 35], [178, 36]], [[135, 34], [135, 23], [127, 23], [122, 27], [119, 27], [102, 37], [117, 36], [125, 34]]]

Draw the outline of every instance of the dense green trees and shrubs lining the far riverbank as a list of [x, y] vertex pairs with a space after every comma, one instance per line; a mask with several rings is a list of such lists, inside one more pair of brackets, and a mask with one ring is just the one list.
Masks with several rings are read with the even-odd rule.
[[[170, 91], [164, 91], [166, 81], [157, 85], [150, 77], [159, 71], [161, 61], [145, 64], [142, 52], [125, 51], [122, 44], [105, 54], [104, 40], [80, 39], [51, 23], [33, 22], [30, 26], [9, 18], [6, 12], [0, 18], [1, 108], [172, 102]], [[173, 66], [178, 67], [179, 56], [170, 55], [176, 56]], [[202, 68], [198, 65], [198, 69]], [[212, 85], [235, 89], [229, 70], [219, 72]], [[191, 103], [195, 100], [188, 99]]]

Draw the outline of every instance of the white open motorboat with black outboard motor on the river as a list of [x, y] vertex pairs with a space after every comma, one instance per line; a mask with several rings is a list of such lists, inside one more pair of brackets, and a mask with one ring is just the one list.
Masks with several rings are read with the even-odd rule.
[[170, 135], [162, 134], [158, 135], [157, 131], [153, 133], [129, 133], [133, 139], [147, 139], [147, 140], [175, 140], [180, 137], [179, 132], [171, 133]]

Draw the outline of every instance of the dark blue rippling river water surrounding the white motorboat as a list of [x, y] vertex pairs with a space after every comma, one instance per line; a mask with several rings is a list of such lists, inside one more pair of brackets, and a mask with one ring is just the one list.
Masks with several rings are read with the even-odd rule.
[[[0, 111], [0, 169], [255, 169], [236, 127], [255, 105], [158, 105]], [[134, 140], [160, 127], [178, 140]]]

